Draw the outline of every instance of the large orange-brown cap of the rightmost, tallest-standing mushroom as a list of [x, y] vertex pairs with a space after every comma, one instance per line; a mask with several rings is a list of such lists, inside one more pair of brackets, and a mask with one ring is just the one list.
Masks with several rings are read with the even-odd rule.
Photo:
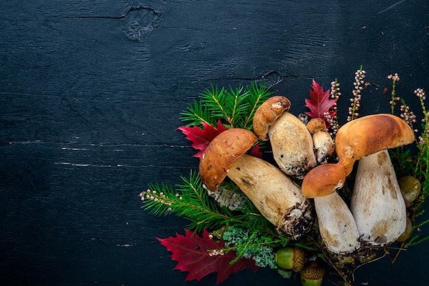
[[354, 161], [384, 149], [413, 143], [414, 131], [408, 124], [391, 114], [374, 114], [357, 118], [343, 125], [335, 138], [335, 152], [352, 172]]

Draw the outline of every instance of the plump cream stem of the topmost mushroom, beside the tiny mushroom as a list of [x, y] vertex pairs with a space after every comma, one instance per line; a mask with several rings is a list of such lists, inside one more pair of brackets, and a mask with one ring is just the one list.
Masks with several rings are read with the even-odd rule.
[[284, 112], [268, 131], [273, 157], [289, 176], [303, 179], [316, 165], [313, 142], [306, 125], [296, 116]]

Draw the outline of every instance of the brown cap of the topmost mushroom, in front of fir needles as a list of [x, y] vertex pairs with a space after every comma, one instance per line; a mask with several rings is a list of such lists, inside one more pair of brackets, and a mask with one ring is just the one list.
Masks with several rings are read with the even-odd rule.
[[273, 96], [262, 103], [262, 105], [256, 109], [253, 119], [254, 133], [258, 138], [262, 141], [269, 140], [269, 126], [272, 125], [283, 112], [288, 112], [289, 109], [291, 109], [291, 101], [281, 95]]

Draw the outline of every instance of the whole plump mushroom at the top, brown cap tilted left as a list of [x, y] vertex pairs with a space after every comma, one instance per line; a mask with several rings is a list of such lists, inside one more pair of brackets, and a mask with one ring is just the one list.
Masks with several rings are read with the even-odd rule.
[[267, 99], [256, 110], [253, 127], [260, 140], [270, 140], [273, 158], [291, 177], [304, 178], [316, 165], [312, 138], [306, 125], [289, 113], [291, 102], [284, 96]]

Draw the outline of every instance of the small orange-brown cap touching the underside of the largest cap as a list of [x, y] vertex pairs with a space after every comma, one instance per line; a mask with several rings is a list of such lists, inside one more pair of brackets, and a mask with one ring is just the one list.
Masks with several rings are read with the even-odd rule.
[[341, 162], [313, 168], [302, 181], [302, 194], [307, 198], [328, 196], [343, 187], [345, 172]]

